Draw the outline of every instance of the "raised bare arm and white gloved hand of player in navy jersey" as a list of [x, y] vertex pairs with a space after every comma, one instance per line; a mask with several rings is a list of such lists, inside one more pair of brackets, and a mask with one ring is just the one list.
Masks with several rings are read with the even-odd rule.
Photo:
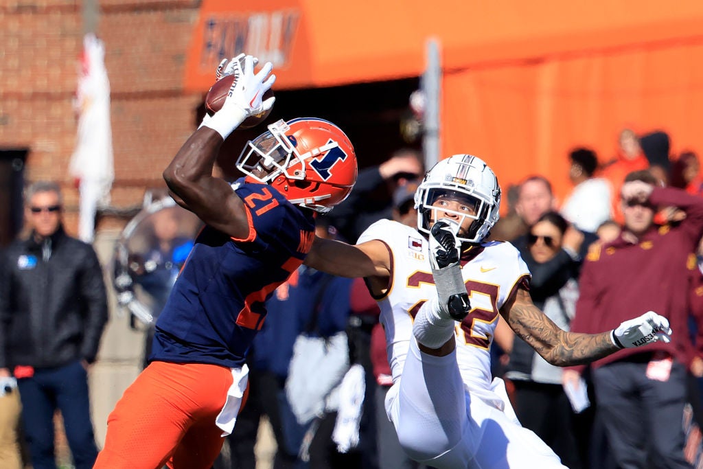
[[275, 75], [272, 65], [266, 63], [254, 73], [256, 59], [238, 56], [223, 60], [217, 77], [236, 74], [238, 79], [222, 105], [212, 116], [206, 115], [202, 124], [164, 171], [164, 179], [176, 203], [195, 213], [224, 233], [246, 238], [249, 233], [243, 202], [228, 182], [212, 176], [212, 169], [224, 139], [248, 116], [260, 113], [273, 105], [273, 99], [262, 102], [262, 96], [271, 88]]

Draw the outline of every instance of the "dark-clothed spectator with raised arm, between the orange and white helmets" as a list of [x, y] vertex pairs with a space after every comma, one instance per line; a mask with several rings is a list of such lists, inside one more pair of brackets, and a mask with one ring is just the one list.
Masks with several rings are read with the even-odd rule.
[[374, 221], [392, 218], [392, 195], [396, 188], [423, 173], [422, 155], [418, 150], [397, 150], [380, 165], [361, 169], [352, 193], [328, 217], [342, 238], [354, 243]]

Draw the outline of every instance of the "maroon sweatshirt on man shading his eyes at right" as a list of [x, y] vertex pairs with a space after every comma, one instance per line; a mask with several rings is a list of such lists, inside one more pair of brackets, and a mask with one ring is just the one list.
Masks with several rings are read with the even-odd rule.
[[637, 244], [620, 236], [612, 243], [592, 245], [579, 278], [581, 293], [571, 330], [602, 333], [651, 310], [669, 319], [671, 342], [623, 349], [595, 361], [594, 367], [659, 350], [683, 364], [690, 361], [687, 321], [692, 270], [697, 269], [692, 253], [703, 236], [703, 198], [676, 188], [654, 188], [650, 203], [679, 207], [686, 218], [676, 225], [652, 226]]

